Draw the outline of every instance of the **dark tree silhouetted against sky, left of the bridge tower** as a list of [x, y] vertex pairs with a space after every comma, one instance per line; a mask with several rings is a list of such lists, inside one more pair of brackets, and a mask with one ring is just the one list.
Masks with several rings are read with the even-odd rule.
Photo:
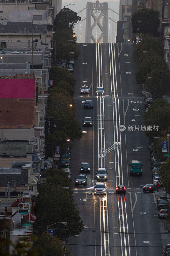
[[69, 8], [62, 9], [55, 17], [54, 29], [68, 27], [73, 29], [75, 24], [80, 20], [81, 17], [77, 15], [77, 12], [73, 12]]

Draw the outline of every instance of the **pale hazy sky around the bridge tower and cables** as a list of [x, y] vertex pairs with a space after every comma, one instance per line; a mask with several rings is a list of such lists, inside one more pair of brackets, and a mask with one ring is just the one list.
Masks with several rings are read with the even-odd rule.
[[[75, 12], [79, 12], [83, 8], [86, 7], [87, 2], [92, 2], [95, 3], [96, 1], [90, 1], [90, 0], [76, 0], [76, 1], [70, 1], [70, 0], [62, 0], [62, 8], [64, 8], [64, 5], [67, 4], [75, 4], [75, 5], [69, 5], [67, 8], [70, 8], [71, 10]], [[116, 12], [119, 12], [119, 2], [118, 1], [99, 1], [100, 3], [107, 2], [108, 7], [111, 8], [112, 10], [115, 10]], [[81, 16], [82, 20], [86, 17], [86, 10], [82, 11], [81, 13], [78, 13], [79, 16]], [[99, 16], [99, 14], [98, 14]], [[119, 15], [116, 13], [108, 10], [108, 17], [111, 18], [112, 20], [119, 20]], [[92, 19], [93, 21], [93, 19]], [[100, 23], [102, 23], [102, 19], [100, 19]], [[81, 24], [81, 27], [80, 27]], [[111, 20], [108, 20], [108, 42], [115, 42], [115, 33], [117, 29], [117, 24]], [[85, 20], [79, 23], [78, 25], [75, 26], [75, 33], [77, 34], [78, 37], [78, 43], [84, 43], [85, 42]], [[96, 35], [96, 28], [93, 29], [93, 36]], [[97, 37], [99, 37], [100, 31], [99, 29], [97, 30]]]

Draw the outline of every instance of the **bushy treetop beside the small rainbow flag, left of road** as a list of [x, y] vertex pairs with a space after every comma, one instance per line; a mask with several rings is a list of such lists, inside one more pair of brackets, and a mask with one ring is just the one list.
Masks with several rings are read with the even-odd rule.
[[49, 71], [50, 80], [53, 80], [53, 84], [57, 84], [59, 81], [64, 80], [68, 82], [72, 88], [76, 85], [76, 79], [73, 75], [70, 75], [70, 72], [67, 68], [56, 68], [52, 67]]

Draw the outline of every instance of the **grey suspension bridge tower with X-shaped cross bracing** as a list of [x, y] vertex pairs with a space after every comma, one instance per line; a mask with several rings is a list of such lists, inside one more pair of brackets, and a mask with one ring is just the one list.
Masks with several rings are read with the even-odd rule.
[[[85, 27], [85, 43], [99, 43], [101, 40], [103, 43], [108, 42], [108, 4], [87, 2], [86, 5], [86, 27]], [[92, 24], [93, 18], [93, 24]], [[101, 23], [100, 23], [101, 20]], [[94, 28], [96, 28], [95, 31]], [[97, 38], [97, 29], [101, 31], [100, 36]], [[93, 34], [92, 34], [93, 32]], [[95, 36], [94, 36], [95, 34]]]

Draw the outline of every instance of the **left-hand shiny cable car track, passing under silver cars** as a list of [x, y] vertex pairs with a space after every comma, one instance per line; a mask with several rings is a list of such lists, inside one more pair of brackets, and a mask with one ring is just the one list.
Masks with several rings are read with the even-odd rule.
[[[96, 73], [97, 87], [103, 87], [101, 43], [96, 43]], [[97, 96], [98, 167], [106, 166], [104, 116], [104, 96]], [[110, 256], [107, 194], [100, 197], [100, 243], [101, 256]]]

